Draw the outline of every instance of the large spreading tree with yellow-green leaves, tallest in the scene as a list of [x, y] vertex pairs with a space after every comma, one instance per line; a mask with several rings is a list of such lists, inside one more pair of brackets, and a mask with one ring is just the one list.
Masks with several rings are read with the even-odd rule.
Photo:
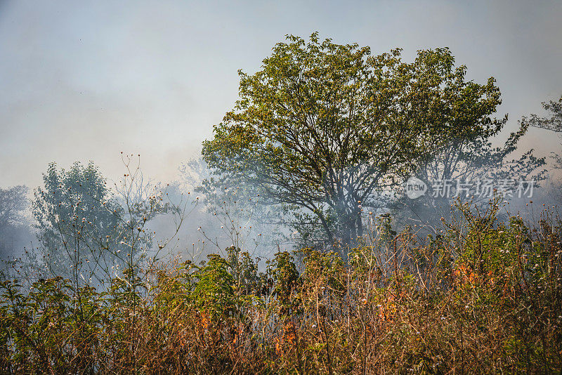
[[270, 202], [305, 209], [327, 241], [362, 235], [362, 206], [376, 206], [416, 161], [451, 133], [495, 129], [493, 78], [465, 79], [447, 48], [371, 55], [358, 44], [288, 36], [255, 74], [203, 156], [214, 173], [242, 176]]

